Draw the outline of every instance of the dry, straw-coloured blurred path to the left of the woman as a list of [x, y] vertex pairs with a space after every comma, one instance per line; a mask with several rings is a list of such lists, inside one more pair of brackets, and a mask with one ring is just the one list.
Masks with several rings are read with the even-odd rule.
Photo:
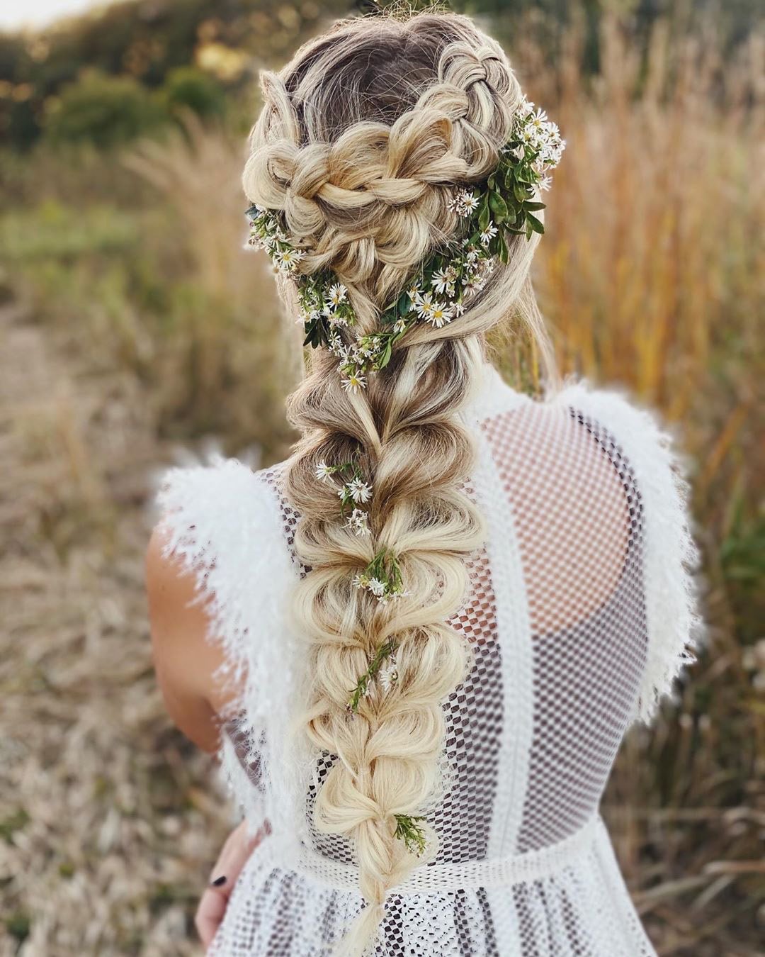
[[[0, 954], [199, 953], [189, 915], [228, 809], [171, 731], [142, 554], [140, 384], [0, 309]], [[3, 936], [4, 935], [4, 936]]]

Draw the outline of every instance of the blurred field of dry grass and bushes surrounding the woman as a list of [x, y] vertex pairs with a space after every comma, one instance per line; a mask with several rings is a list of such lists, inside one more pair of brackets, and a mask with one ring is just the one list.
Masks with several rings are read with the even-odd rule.
[[[765, 931], [763, 54], [756, 0], [457, 2], [568, 140], [536, 288], [564, 372], [689, 454], [710, 641], [604, 812], [662, 957]], [[339, 2], [131, 0], [0, 34], [0, 953], [191, 954], [230, 823], [169, 727], [142, 553], [154, 473], [289, 434], [296, 327], [242, 250], [256, 76]], [[536, 389], [527, 344], [497, 343]]]

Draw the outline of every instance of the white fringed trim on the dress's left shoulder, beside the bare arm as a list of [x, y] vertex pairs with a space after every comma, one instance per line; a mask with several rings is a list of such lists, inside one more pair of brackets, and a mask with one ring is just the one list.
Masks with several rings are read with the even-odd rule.
[[[235, 458], [168, 469], [157, 503], [165, 557], [196, 576], [195, 602], [209, 618], [208, 638], [224, 657], [216, 679], [236, 690], [231, 712], [246, 754], [222, 735], [219, 757], [230, 790], [254, 833], [268, 818], [275, 831], [299, 837], [310, 755], [294, 728], [292, 701], [303, 680], [299, 641], [284, 609], [299, 575], [287, 548], [273, 489]], [[258, 634], [252, 634], [253, 625]], [[256, 762], [255, 786], [244, 768]]]

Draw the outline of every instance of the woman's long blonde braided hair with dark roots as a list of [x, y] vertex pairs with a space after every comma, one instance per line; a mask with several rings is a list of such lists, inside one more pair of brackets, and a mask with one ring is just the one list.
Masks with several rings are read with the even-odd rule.
[[[423, 256], [453, 238], [453, 186], [492, 172], [520, 87], [492, 38], [467, 17], [440, 13], [340, 21], [261, 79], [245, 191], [283, 211], [306, 254], [299, 272], [331, 269], [347, 287], [357, 317], [342, 333], [350, 342], [377, 328]], [[302, 437], [286, 494], [301, 516], [295, 551], [310, 569], [295, 591], [311, 639], [304, 725], [314, 746], [337, 755], [314, 822], [352, 839], [365, 901], [343, 942], [349, 954], [372, 943], [387, 892], [421, 862], [396, 837], [396, 815], [432, 806], [442, 702], [470, 668], [469, 646], [448, 617], [468, 590], [465, 558], [484, 541], [481, 513], [460, 487], [474, 463], [460, 412], [480, 381], [486, 331], [521, 315], [552, 367], [529, 280], [536, 236], [509, 245], [508, 263], [497, 264], [467, 312], [440, 329], [415, 325], [367, 389], [343, 390], [337, 358], [318, 349], [289, 400]], [[374, 487], [372, 534], [361, 537], [316, 475], [320, 461], [357, 454]], [[352, 585], [383, 548], [397, 556], [408, 592], [388, 604]], [[385, 692], [373, 682], [349, 714], [351, 691], [389, 638], [397, 682]], [[432, 856], [437, 835], [427, 838]]]

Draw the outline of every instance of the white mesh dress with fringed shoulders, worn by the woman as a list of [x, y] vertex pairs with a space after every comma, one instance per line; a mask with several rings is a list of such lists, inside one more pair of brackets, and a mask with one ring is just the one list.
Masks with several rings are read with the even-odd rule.
[[[599, 802], [624, 731], [650, 719], [692, 659], [699, 620], [687, 485], [656, 417], [571, 382], [534, 400], [486, 367], [467, 413], [468, 492], [489, 538], [451, 625], [470, 676], [444, 701], [437, 857], [395, 888], [377, 957], [655, 954]], [[173, 469], [160, 495], [173, 550], [198, 576], [211, 637], [244, 686], [222, 760], [257, 828], [209, 951], [320, 957], [362, 906], [352, 848], [311, 824], [335, 756], [286, 734], [304, 648], [285, 611], [299, 517], [278, 466]]]

